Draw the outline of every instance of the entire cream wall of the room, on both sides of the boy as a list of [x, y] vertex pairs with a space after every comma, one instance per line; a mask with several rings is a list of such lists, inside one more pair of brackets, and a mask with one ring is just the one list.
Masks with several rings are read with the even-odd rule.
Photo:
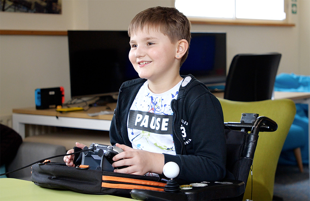
[[[0, 29], [126, 30], [139, 11], [173, 6], [173, 0], [63, 0], [62, 14], [0, 12]], [[227, 32], [227, 66], [237, 53], [278, 51], [278, 73], [310, 74], [310, 1], [299, 0], [295, 27], [193, 25], [193, 30]], [[66, 36], [0, 36], [0, 115], [12, 108], [34, 107], [34, 90], [63, 86], [70, 98]]]

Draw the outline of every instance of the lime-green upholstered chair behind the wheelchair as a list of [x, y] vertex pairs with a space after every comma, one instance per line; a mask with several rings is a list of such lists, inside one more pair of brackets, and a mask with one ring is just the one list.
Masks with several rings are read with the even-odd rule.
[[253, 159], [253, 177], [249, 174], [243, 197], [243, 200], [251, 199], [253, 188], [252, 200], [272, 200], [278, 159], [296, 113], [294, 102], [288, 99], [255, 102], [218, 99], [223, 108], [225, 122], [239, 122], [242, 113], [257, 113], [259, 116], [271, 118], [278, 124], [275, 132], [259, 133]]

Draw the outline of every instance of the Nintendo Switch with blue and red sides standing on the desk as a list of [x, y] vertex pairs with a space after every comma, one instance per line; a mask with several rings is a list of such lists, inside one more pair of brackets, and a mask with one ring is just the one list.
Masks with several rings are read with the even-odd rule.
[[36, 109], [55, 108], [64, 103], [64, 87], [38, 88], [34, 92]]

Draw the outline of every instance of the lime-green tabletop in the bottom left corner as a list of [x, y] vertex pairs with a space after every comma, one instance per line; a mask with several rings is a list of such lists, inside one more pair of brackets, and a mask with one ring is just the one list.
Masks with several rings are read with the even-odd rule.
[[12, 178], [0, 179], [0, 200], [132, 200], [113, 195], [82, 194], [70, 190], [49, 189], [35, 185], [31, 181]]

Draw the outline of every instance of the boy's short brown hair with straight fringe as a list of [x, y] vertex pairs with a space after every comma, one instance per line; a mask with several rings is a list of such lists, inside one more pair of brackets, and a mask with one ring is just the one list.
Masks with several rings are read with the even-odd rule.
[[[174, 7], [152, 7], [138, 13], [132, 20], [128, 28], [128, 35], [135, 33], [137, 29], [144, 27], [157, 28], [169, 37], [171, 42], [181, 39], [191, 40], [191, 23], [188, 18]], [[188, 50], [181, 59], [181, 64], [186, 60]]]

